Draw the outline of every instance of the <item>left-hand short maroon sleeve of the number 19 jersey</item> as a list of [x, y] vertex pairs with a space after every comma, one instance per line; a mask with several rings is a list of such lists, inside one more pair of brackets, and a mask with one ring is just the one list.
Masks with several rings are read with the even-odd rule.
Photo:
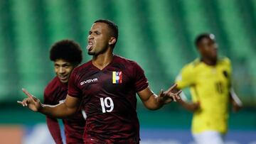
[[70, 79], [68, 80], [68, 95], [80, 98], [82, 96], [82, 92], [78, 88], [77, 78], [77, 71], [73, 70]]

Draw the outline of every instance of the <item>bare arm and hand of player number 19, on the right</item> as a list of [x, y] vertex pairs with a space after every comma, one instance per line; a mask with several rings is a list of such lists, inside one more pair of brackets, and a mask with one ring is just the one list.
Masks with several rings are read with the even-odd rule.
[[152, 92], [151, 89], [147, 87], [141, 92], [138, 92], [138, 94], [147, 109], [156, 110], [160, 109], [162, 106], [164, 106], [164, 104], [169, 104], [171, 101], [181, 100], [179, 96], [179, 94], [181, 94], [181, 91], [174, 92], [174, 89], [176, 87], [177, 84], [174, 84], [165, 92], [161, 89], [159, 95], [154, 94], [154, 92]]

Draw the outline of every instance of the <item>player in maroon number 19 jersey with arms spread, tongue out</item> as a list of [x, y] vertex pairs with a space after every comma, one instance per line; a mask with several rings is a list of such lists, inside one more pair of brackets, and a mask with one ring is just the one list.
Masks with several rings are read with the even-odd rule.
[[87, 51], [92, 60], [75, 68], [68, 82], [68, 96], [63, 104], [46, 106], [28, 93], [23, 106], [47, 116], [62, 118], [77, 111], [82, 99], [87, 123], [85, 143], [139, 143], [136, 94], [147, 109], [160, 109], [180, 99], [170, 87], [154, 94], [137, 62], [113, 55], [118, 28], [108, 20], [97, 20], [88, 35]]

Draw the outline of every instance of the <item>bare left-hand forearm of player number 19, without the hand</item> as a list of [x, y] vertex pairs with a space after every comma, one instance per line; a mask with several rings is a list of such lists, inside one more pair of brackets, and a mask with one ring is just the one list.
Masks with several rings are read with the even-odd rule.
[[41, 104], [40, 113], [53, 118], [66, 118], [72, 116], [77, 111], [76, 108], [68, 108], [65, 103], [57, 104], [55, 106]]

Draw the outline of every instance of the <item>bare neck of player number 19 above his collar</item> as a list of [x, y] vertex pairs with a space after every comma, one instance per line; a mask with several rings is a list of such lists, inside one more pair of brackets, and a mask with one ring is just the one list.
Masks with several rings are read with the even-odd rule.
[[107, 51], [100, 55], [95, 55], [92, 57], [92, 65], [102, 70], [105, 67], [107, 67], [107, 65], [109, 65], [110, 62], [112, 62], [113, 56], [114, 55], [112, 51]]

